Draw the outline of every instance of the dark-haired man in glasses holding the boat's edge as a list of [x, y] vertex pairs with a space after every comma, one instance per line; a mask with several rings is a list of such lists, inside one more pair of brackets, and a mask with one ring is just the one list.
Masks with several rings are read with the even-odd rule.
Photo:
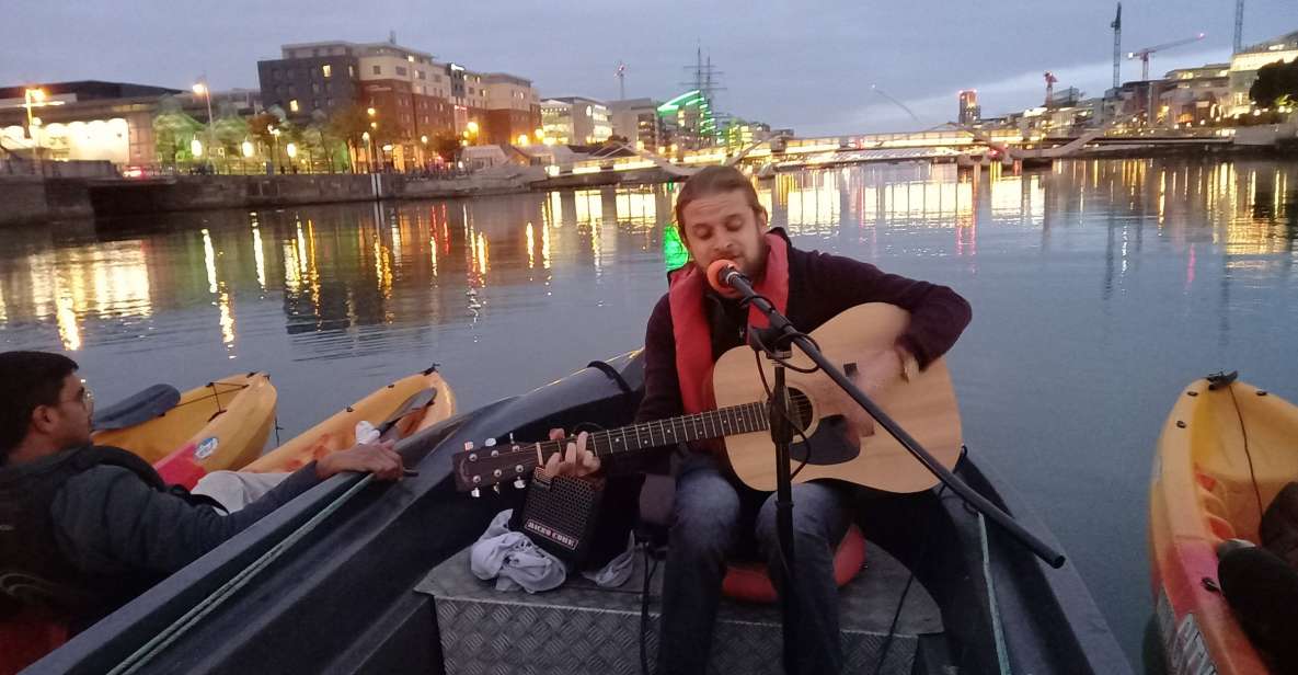
[[144, 460], [93, 445], [91, 411], [73, 360], [0, 353], [0, 618], [34, 606], [75, 632], [334, 474], [404, 472], [391, 444], [357, 445], [225, 515]]

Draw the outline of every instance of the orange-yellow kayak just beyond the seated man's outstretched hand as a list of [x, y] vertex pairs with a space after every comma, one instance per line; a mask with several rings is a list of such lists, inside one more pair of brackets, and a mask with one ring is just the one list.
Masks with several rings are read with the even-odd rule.
[[379, 427], [395, 422], [392, 434], [404, 437], [456, 414], [456, 395], [435, 369], [398, 379], [288, 443], [248, 463], [243, 471], [296, 471], [302, 466], [356, 444], [356, 424]]

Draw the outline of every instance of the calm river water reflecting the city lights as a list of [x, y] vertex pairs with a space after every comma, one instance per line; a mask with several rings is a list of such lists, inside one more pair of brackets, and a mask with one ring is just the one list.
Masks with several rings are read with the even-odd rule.
[[[0, 231], [0, 348], [100, 401], [265, 370], [284, 437], [440, 363], [461, 408], [641, 345], [679, 186], [202, 212]], [[1298, 162], [868, 165], [759, 183], [796, 245], [949, 284], [966, 441], [1024, 493], [1133, 662], [1146, 492], [1177, 391], [1298, 400]]]

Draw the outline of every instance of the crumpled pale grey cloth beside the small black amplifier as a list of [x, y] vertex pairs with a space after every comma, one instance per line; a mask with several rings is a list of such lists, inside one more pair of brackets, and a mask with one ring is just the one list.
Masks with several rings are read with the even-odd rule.
[[532, 544], [527, 535], [510, 530], [513, 513], [513, 509], [506, 509], [496, 514], [469, 552], [469, 567], [474, 575], [484, 582], [496, 579], [496, 591], [522, 588], [537, 593], [563, 585], [567, 579], [563, 563]]

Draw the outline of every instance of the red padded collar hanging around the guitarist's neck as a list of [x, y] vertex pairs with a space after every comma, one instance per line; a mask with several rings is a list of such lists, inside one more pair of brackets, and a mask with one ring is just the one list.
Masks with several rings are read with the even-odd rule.
[[[766, 234], [766, 271], [753, 288], [770, 299], [781, 314], [789, 301], [789, 244], [779, 235]], [[704, 292], [707, 274], [691, 264], [672, 275], [667, 291], [671, 304], [671, 327], [676, 338], [676, 378], [680, 382], [680, 401], [685, 414], [702, 413], [716, 408], [713, 396], [713, 340], [711, 327], [704, 315]], [[755, 306], [748, 308], [749, 326], [765, 328], [766, 314]]]

